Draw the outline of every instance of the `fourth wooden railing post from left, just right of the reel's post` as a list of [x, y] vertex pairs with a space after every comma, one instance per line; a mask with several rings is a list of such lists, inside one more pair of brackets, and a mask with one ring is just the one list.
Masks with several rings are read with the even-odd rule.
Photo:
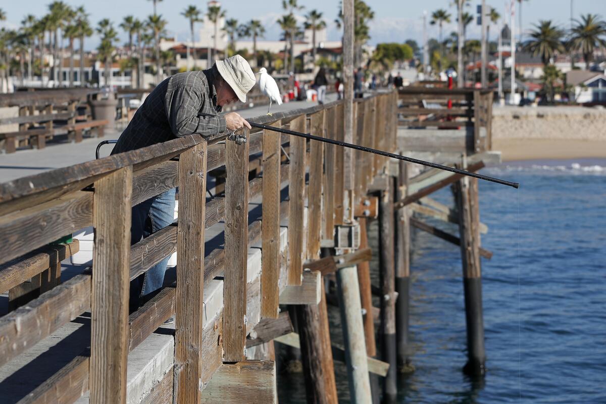
[[[273, 124], [281, 127], [281, 122]], [[278, 318], [280, 271], [280, 134], [263, 133], [261, 318]]]

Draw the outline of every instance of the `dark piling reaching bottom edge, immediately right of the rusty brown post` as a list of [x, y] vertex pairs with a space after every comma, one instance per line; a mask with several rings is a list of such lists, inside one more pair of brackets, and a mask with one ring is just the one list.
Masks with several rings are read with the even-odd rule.
[[396, 365], [396, 293], [393, 231], [393, 181], [381, 191], [379, 204], [379, 277], [381, 279], [381, 347], [382, 359], [390, 368], [385, 376], [383, 402], [395, 403], [398, 397]]

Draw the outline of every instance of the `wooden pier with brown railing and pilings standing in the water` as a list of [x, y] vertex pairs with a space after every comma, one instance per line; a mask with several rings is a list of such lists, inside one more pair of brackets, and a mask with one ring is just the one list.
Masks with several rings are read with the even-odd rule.
[[[441, 108], [419, 107], [423, 91], [440, 102], [459, 99], [467, 111], [444, 122], [447, 134], [438, 137], [450, 142], [446, 153], [425, 129], [427, 110]], [[350, 140], [479, 170], [498, 159], [489, 151], [491, 98], [458, 91], [465, 92], [357, 99]], [[346, 140], [344, 109], [336, 101], [251, 121]], [[434, 113], [432, 126], [443, 127], [442, 116]], [[0, 318], [0, 396], [19, 403], [275, 403], [276, 342], [301, 348], [308, 402], [337, 402], [333, 360], [346, 363], [350, 391], [370, 390], [370, 373], [384, 385], [385, 402], [394, 402], [396, 373], [414, 365], [411, 225], [461, 245], [467, 369], [484, 371], [480, 257], [489, 252], [481, 248], [477, 182], [273, 131], [241, 134], [244, 144], [187, 136], [0, 184], [0, 293], [8, 291], [14, 309]], [[430, 199], [451, 184], [455, 207]], [[130, 245], [131, 208], [175, 187], [178, 220]], [[424, 216], [458, 223], [459, 236]], [[375, 219], [380, 254], [367, 247], [366, 224]], [[88, 226], [95, 228], [92, 268], [67, 277], [61, 261], [78, 251], [78, 240], [57, 240]], [[170, 280], [129, 314], [129, 281], [175, 251]], [[370, 282], [371, 254], [381, 256], [381, 285]], [[325, 277], [336, 280], [337, 299], [326, 294]], [[327, 304], [339, 305], [344, 346], [330, 341]], [[288, 306], [296, 308], [298, 334]], [[175, 325], [163, 325], [171, 316]]]

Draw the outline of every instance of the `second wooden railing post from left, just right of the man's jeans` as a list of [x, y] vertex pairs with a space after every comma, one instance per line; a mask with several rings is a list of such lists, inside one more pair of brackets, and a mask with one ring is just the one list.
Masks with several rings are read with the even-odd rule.
[[206, 162], [205, 141], [179, 157], [174, 366], [178, 403], [200, 402]]

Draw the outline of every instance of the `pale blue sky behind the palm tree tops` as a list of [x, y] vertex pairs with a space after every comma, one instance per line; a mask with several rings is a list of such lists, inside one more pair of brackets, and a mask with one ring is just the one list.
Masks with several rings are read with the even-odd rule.
[[[126, 15], [135, 15], [144, 19], [152, 13], [152, 3], [149, 0], [64, 0], [75, 7], [84, 5], [90, 13], [90, 19], [96, 25], [102, 18], [110, 18], [116, 25]], [[472, 0], [469, 12], [475, 12], [475, 5], [481, 0]], [[21, 19], [28, 13], [41, 16], [47, 9], [50, 0], [2, 1], [0, 8], [7, 14], [7, 21], [0, 22], [0, 26], [16, 27]], [[168, 20], [168, 31], [179, 39], [188, 38], [188, 23], [181, 16], [182, 10], [189, 4], [198, 8], [206, 8], [206, 1], [192, 0], [164, 0], [158, 3], [158, 13]], [[431, 13], [438, 8], [447, 8], [451, 13], [450, 0], [367, 0], [367, 4], [375, 12], [375, 19], [370, 24], [371, 44], [378, 42], [404, 42], [406, 39], [422, 39], [422, 14], [424, 10]], [[252, 18], [261, 19], [265, 24], [267, 39], [278, 39], [279, 27], [275, 23], [282, 13], [281, 0], [225, 0], [222, 7], [227, 10], [228, 18], [236, 18], [241, 22]], [[339, 31], [333, 23], [338, 12], [338, 0], [299, 0], [305, 10], [317, 9], [324, 13], [328, 24], [328, 39], [339, 39]], [[574, 16], [597, 13], [606, 18], [606, 0], [573, 0]], [[27, 5], [27, 6], [26, 6]], [[497, 8], [501, 15], [505, 14], [505, 0], [487, 0], [487, 5]], [[551, 19], [566, 27], [570, 21], [570, 0], [529, 0], [523, 2], [523, 26], [529, 29], [539, 19]], [[516, 19], [517, 24], [518, 19]], [[455, 30], [454, 24], [444, 28], [444, 36]], [[494, 28], [493, 31], [494, 32]], [[430, 38], [438, 36], [438, 28], [429, 26]], [[469, 29], [469, 36], [478, 36], [478, 27]], [[123, 41], [126, 40], [121, 33]], [[97, 38], [88, 41], [89, 46], [98, 43]]]

